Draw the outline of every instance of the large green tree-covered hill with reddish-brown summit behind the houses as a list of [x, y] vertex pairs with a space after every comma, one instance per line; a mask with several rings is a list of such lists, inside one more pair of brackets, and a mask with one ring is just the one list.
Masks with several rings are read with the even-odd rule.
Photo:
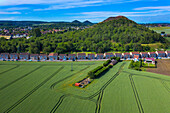
[[[35, 35], [36, 36], [36, 35]], [[69, 53], [107, 51], [149, 51], [142, 44], [161, 42], [167, 48], [165, 38], [160, 34], [138, 25], [126, 17], [112, 17], [88, 29], [46, 34], [26, 39], [0, 40], [0, 52]], [[12, 48], [12, 47], [13, 48]], [[15, 48], [15, 49], [14, 49]]]

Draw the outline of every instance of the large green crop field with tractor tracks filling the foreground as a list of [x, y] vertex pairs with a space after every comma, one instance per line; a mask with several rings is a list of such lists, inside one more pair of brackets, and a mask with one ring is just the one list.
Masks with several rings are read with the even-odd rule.
[[95, 62], [0, 62], [0, 113], [170, 113], [170, 76], [119, 62], [86, 88]]

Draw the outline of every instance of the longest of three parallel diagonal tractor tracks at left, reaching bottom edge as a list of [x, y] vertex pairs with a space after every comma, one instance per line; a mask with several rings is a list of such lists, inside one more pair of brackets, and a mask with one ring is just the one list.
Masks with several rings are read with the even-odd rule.
[[54, 77], [58, 72], [60, 72], [64, 66], [59, 68], [56, 72], [54, 72], [51, 76], [46, 78], [43, 82], [41, 82], [39, 85], [37, 85], [34, 89], [32, 89], [29, 93], [27, 93], [24, 97], [19, 99], [16, 103], [14, 103], [11, 107], [9, 107], [7, 110], [4, 111], [4, 113], [9, 113], [11, 110], [13, 110], [15, 107], [17, 107], [20, 103], [22, 103], [25, 99], [27, 99], [31, 94], [33, 94], [35, 91], [37, 91], [41, 86], [43, 86], [46, 82], [48, 82], [52, 77]]

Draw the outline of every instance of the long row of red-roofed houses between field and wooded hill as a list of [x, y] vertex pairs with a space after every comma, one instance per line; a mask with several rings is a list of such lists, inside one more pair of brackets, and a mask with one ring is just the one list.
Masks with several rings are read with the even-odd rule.
[[138, 55], [139, 58], [162, 58], [169, 57], [170, 51], [156, 51], [156, 52], [130, 52], [130, 53], [97, 53], [97, 54], [87, 54], [86, 53], [77, 53], [77, 54], [58, 54], [50, 53], [47, 54], [29, 54], [29, 53], [0, 53], [0, 59], [12, 59], [12, 60], [83, 60], [83, 59], [110, 59], [111, 57], [120, 57], [124, 59], [134, 58], [135, 55]]

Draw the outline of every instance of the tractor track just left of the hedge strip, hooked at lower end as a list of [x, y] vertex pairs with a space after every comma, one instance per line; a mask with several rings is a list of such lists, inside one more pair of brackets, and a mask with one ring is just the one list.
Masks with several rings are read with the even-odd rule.
[[70, 78], [70, 77], [72, 77], [72, 76], [74, 76], [74, 75], [76, 75], [76, 74], [78, 74], [78, 73], [80, 73], [80, 72], [88, 69], [89, 67], [90, 67], [90, 66], [87, 66], [87, 67], [83, 68], [82, 70], [80, 70], [80, 71], [78, 71], [78, 72], [76, 72], [76, 73], [73, 73], [73, 74], [71, 74], [70, 76], [67, 76], [67, 77], [65, 77], [65, 78], [63, 78], [63, 79], [61, 79], [61, 80], [53, 83], [53, 84], [50, 86], [50, 89], [53, 89], [58, 83], [60, 83], [60, 82], [62, 82], [62, 81], [64, 81], [64, 80], [66, 80], [66, 79], [68, 79], [68, 78]]

